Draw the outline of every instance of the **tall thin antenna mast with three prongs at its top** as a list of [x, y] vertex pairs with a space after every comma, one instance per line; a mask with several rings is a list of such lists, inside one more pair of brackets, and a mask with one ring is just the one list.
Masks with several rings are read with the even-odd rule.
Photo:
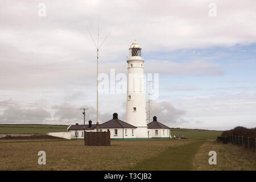
[[[89, 31], [89, 28], [87, 28], [87, 30], [88, 30], [88, 32], [89, 32], [89, 34], [90, 34], [90, 31]], [[108, 36], [109, 36], [109, 34], [110, 34], [110, 32], [109, 32], [109, 34], [106, 36], [106, 38], [102, 41], [102, 43], [100, 44], [100, 46], [99, 46], [99, 44], [98, 44], [98, 38], [99, 38], [99, 30], [100, 30], [100, 16], [98, 16], [98, 34], [97, 34], [97, 45], [96, 45], [96, 43], [95, 43], [95, 41], [94, 41], [94, 39], [93, 39], [93, 37], [92, 37], [92, 34], [90, 34], [90, 38], [92, 39], [92, 41], [93, 41], [93, 43], [94, 43], [94, 46], [96, 47], [96, 50], [97, 50], [97, 117], [96, 117], [96, 121], [97, 121], [97, 123], [96, 123], [96, 125], [97, 125], [97, 132], [98, 132], [98, 126], [100, 125], [100, 123], [98, 122], [98, 51], [100, 50], [100, 47], [102, 46], [102, 44], [105, 42], [105, 40], [108, 38]]]

